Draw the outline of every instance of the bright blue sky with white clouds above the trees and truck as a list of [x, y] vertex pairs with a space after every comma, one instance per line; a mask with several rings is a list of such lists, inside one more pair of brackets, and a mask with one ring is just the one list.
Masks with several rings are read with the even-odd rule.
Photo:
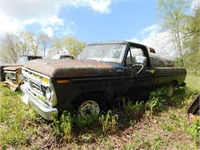
[[158, 39], [167, 33], [159, 29], [157, 0], [0, 0], [0, 38], [31, 31], [87, 43], [131, 40], [160, 49]]

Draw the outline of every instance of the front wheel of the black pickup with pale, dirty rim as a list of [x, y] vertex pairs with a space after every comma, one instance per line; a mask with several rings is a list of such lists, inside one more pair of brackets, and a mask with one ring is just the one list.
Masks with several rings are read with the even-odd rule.
[[79, 97], [77, 103], [77, 116], [79, 118], [87, 118], [88, 116], [97, 116], [106, 109], [105, 98], [100, 94], [92, 94], [85, 97]]

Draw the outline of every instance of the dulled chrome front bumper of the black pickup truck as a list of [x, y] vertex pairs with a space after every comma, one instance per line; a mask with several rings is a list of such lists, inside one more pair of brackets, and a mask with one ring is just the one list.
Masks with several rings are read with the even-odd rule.
[[24, 84], [20, 86], [20, 89], [24, 93], [21, 100], [25, 104], [30, 104], [43, 118], [46, 120], [53, 120], [58, 117], [58, 110], [56, 108], [47, 106], [45, 103], [39, 101], [27, 90]]

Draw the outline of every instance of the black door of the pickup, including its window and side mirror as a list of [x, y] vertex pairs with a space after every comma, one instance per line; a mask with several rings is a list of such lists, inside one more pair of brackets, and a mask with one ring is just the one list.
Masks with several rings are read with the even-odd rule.
[[[125, 65], [127, 68], [127, 95], [131, 100], [146, 98], [153, 87], [154, 73], [149, 71], [146, 47], [131, 45], [127, 52]], [[146, 53], [145, 53], [146, 52]], [[142, 58], [143, 62], [137, 58]]]

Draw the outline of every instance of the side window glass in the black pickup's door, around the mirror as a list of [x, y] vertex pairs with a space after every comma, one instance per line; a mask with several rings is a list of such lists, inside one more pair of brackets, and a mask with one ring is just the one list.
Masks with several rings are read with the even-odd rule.
[[[142, 49], [137, 48], [137, 47], [130, 47], [130, 50], [126, 57], [126, 65], [135, 65], [136, 64], [136, 60], [135, 60], [136, 56], [144, 56]], [[146, 66], [146, 63], [144, 64], [144, 66]]]

